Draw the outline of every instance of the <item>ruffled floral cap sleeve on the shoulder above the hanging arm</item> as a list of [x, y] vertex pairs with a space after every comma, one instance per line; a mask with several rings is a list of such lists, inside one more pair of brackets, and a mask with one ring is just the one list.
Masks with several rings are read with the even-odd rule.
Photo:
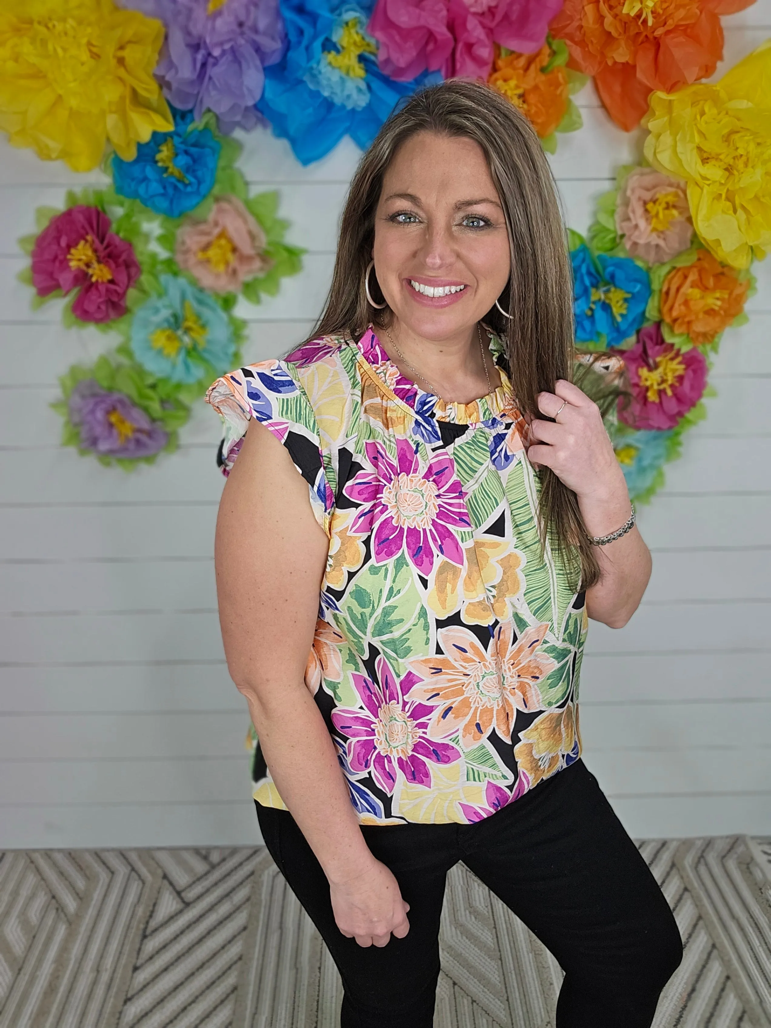
[[241, 451], [249, 420], [256, 417], [286, 446], [308, 483], [316, 520], [329, 535], [334, 493], [324, 470], [316, 414], [299, 380], [285, 361], [261, 361], [238, 368], [210, 386], [207, 403], [222, 416], [224, 438], [218, 463], [228, 475]]

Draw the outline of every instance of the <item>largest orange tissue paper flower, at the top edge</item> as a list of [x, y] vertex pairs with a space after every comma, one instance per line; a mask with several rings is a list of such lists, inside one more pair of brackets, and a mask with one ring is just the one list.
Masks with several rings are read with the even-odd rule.
[[565, 0], [549, 30], [564, 39], [571, 66], [594, 76], [616, 124], [631, 131], [652, 89], [708, 78], [723, 57], [721, 14], [752, 0]]

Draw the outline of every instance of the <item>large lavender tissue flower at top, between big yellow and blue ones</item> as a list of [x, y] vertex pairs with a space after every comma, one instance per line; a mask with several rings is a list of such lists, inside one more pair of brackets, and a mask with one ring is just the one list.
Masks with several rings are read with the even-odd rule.
[[254, 105], [262, 95], [264, 69], [284, 50], [279, 0], [131, 0], [159, 17], [167, 38], [155, 69], [169, 102], [209, 109], [221, 132], [254, 128]]

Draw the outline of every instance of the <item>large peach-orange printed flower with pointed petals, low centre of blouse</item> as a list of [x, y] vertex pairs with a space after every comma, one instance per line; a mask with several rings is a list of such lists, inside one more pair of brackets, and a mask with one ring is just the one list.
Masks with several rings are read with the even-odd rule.
[[538, 710], [539, 683], [557, 665], [538, 653], [549, 625], [536, 625], [514, 639], [511, 621], [499, 625], [487, 652], [468, 628], [451, 625], [437, 632], [446, 656], [409, 662], [421, 682], [409, 698], [436, 704], [429, 735], [444, 738], [461, 733], [461, 745], [470, 749], [492, 730], [507, 742], [517, 709]]

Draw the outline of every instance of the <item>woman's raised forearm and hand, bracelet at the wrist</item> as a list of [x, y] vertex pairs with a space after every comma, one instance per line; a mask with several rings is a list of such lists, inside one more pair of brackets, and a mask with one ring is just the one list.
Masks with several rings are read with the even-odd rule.
[[[599, 408], [572, 382], [560, 379], [554, 390], [541, 394], [539, 407], [549, 417], [559, 411], [558, 418], [533, 421], [530, 431], [539, 443], [529, 447], [527, 456], [551, 468], [574, 490], [590, 536], [610, 535], [626, 522], [631, 503]], [[623, 628], [651, 578], [651, 553], [636, 525], [596, 550], [601, 576], [587, 589], [587, 613], [611, 628]]]

